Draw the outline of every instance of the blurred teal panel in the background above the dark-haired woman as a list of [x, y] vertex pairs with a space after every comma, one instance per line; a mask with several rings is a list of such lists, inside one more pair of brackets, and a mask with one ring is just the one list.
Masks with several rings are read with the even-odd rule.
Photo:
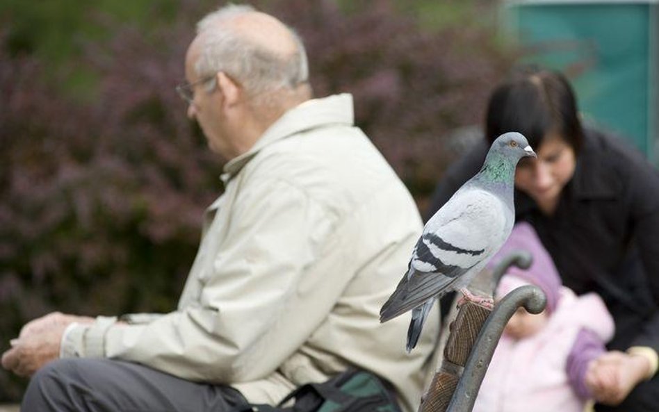
[[507, 10], [530, 52], [524, 60], [566, 73], [587, 120], [621, 133], [652, 157], [650, 5], [525, 3]]

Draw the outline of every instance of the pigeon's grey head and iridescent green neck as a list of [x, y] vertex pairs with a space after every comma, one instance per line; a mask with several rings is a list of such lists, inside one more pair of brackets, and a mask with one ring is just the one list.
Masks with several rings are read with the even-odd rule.
[[491, 182], [512, 183], [519, 159], [529, 156], [537, 157], [521, 133], [504, 133], [492, 142], [480, 177]]

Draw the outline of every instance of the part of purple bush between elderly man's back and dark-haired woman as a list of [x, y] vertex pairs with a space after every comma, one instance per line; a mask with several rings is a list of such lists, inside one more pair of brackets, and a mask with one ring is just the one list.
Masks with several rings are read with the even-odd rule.
[[423, 208], [455, 155], [444, 138], [458, 126], [480, 123], [512, 54], [476, 24], [423, 31], [391, 1], [361, 2], [361, 13], [348, 16], [334, 1], [293, 3], [277, 15], [304, 38], [316, 93], [355, 96], [357, 124]]

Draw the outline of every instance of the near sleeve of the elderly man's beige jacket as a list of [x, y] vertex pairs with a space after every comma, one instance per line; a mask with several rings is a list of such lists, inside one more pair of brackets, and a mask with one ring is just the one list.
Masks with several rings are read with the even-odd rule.
[[273, 179], [242, 190], [229, 213], [227, 241], [197, 280], [196, 304], [146, 324], [105, 328], [102, 353], [92, 354], [84, 338], [72, 352], [225, 384], [266, 376], [291, 356], [350, 280], [349, 271], [331, 272], [332, 287], [305, 293], [321, 276], [314, 263], [332, 249], [327, 239], [336, 219], [303, 190]]

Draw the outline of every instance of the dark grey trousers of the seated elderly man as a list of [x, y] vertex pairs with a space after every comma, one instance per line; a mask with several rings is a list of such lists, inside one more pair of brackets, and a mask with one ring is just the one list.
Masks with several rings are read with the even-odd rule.
[[226, 412], [245, 403], [229, 386], [198, 384], [137, 363], [59, 359], [32, 377], [21, 412]]

